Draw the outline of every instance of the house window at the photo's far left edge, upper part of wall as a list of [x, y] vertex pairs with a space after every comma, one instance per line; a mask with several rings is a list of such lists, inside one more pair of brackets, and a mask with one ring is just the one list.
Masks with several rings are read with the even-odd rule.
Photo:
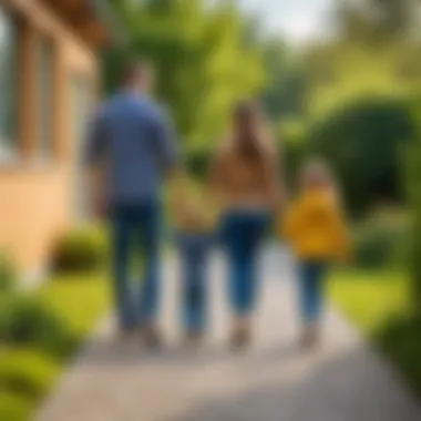
[[17, 145], [17, 29], [0, 8], [0, 164], [12, 161]]

